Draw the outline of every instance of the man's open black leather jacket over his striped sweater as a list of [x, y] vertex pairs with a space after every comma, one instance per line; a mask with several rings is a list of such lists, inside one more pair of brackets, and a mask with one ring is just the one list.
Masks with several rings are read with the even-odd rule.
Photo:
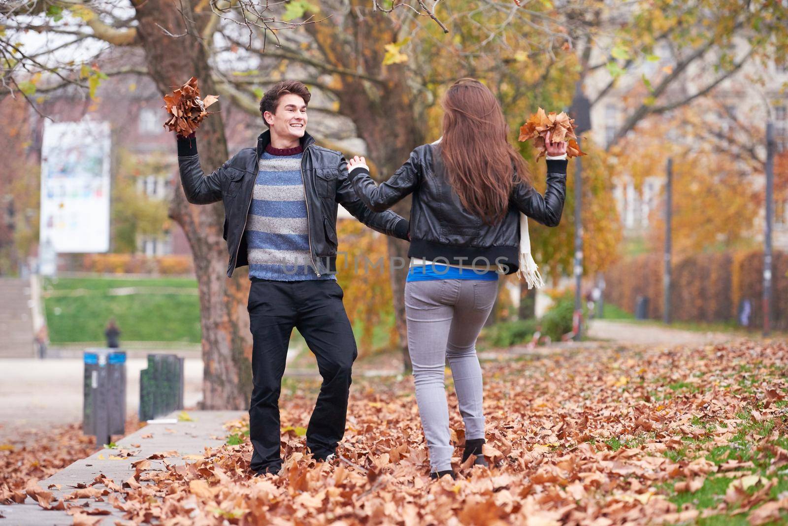
[[[257, 139], [256, 148], [244, 148], [210, 176], [200, 168], [194, 138], [178, 138], [180, 182], [188, 202], [225, 204], [224, 238], [230, 261], [227, 276], [248, 265], [244, 230], [258, 174], [258, 161], [271, 140], [270, 131]], [[341, 203], [366, 226], [386, 235], [407, 239], [408, 222], [396, 213], [373, 212], [356, 196], [348, 181], [348, 163], [340, 152], [318, 146], [309, 134], [301, 139], [301, 175], [307, 201], [309, 244], [315, 272], [336, 272], [336, 211]]]

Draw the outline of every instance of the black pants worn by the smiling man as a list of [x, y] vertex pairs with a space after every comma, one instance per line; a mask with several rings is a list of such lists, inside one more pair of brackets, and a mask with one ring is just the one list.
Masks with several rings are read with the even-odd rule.
[[281, 468], [279, 393], [293, 327], [318, 358], [323, 383], [307, 428], [307, 446], [316, 458], [334, 453], [348, 413], [351, 367], [357, 351], [342, 288], [335, 280], [253, 280], [249, 320], [253, 339], [249, 432], [255, 451], [251, 469]]

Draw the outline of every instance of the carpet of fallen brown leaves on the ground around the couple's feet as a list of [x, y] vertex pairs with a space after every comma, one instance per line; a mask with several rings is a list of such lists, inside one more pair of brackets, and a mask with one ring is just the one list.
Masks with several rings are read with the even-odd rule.
[[[281, 397], [278, 476], [249, 476], [246, 439], [164, 470], [138, 461], [120, 488], [95, 483], [125, 513], [122, 524], [601, 526], [734, 515], [765, 524], [788, 510], [786, 366], [786, 343], [752, 342], [485, 363], [484, 454], [493, 467], [460, 466], [458, 447], [456, 481], [427, 476], [406, 378], [354, 383], [337, 461], [310, 460], [301, 426], [314, 398], [299, 391]], [[449, 400], [452, 440], [462, 446]], [[234, 426], [233, 434], [247, 423]], [[701, 493], [711, 503], [693, 498]]]

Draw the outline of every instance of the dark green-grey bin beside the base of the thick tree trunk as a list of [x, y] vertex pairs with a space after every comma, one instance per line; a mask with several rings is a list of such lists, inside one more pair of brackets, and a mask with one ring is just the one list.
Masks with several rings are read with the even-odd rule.
[[184, 359], [175, 354], [148, 354], [139, 372], [139, 421], [184, 409]]

